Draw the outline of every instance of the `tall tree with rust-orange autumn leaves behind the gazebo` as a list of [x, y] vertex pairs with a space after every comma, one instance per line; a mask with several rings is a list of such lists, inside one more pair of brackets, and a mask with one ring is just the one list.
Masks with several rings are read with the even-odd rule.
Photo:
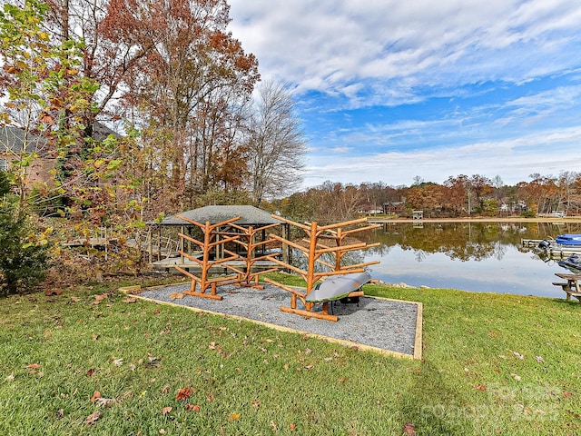
[[[245, 175], [241, 107], [259, 78], [258, 63], [227, 32], [224, 0], [112, 0], [111, 38], [149, 50], [140, 69], [124, 80], [126, 113], [138, 130], [154, 130], [157, 148], [171, 157], [167, 194], [237, 187]], [[142, 48], [143, 47], [143, 48]], [[151, 48], [150, 48], [151, 47]]]

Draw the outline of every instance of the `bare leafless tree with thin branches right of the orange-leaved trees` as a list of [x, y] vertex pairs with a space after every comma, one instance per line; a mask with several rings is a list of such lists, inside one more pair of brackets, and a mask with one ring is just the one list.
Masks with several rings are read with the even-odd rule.
[[248, 140], [251, 193], [255, 204], [265, 195], [283, 195], [300, 185], [306, 146], [291, 93], [281, 84], [259, 86]]

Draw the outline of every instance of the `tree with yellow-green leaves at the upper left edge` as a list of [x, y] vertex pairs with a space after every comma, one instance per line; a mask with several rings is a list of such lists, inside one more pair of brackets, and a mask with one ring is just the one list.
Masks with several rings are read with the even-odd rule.
[[54, 190], [67, 179], [67, 157], [82, 146], [84, 124], [79, 114], [91, 112], [98, 85], [79, 74], [83, 44], [58, 40], [46, 32], [48, 7], [36, 0], [22, 6], [5, 4], [0, 12], [0, 92], [7, 102], [0, 125], [22, 133], [19, 149], [11, 149], [11, 183], [26, 201], [27, 175], [42, 153], [57, 159]]

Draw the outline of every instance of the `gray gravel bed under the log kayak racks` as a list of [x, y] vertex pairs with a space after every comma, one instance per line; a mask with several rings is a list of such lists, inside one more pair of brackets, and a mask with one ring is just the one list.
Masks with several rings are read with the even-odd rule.
[[[183, 292], [189, 284], [179, 284], [144, 290], [140, 295], [158, 302], [172, 302], [203, 311], [237, 315], [249, 320], [268, 322], [300, 332], [310, 332], [335, 338], [352, 345], [414, 354], [418, 305], [412, 302], [361, 297], [358, 304], [334, 302], [333, 313], [338, 322], [317, 318], [307, 319], [293, 313], [281, 312], [281, 306], [290, 306], [291, 294], [276, 286], [266, 285], [263, 290], [225, 285], [218, 288], [222, 301], [184, 295], [171, 299], [173, 292]], [[302, 309], [298, 301], [297, 307]], [[320, 305], [315, 311], [320, 310]], [[421, 325], [419, 326], [421, 328]]]

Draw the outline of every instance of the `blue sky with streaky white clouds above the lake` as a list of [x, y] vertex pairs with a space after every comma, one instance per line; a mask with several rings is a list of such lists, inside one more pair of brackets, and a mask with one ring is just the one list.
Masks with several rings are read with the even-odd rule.
[[262, 78], [293, 92], [303, 187], [581, 172], [581, 2], [229, 4]]

